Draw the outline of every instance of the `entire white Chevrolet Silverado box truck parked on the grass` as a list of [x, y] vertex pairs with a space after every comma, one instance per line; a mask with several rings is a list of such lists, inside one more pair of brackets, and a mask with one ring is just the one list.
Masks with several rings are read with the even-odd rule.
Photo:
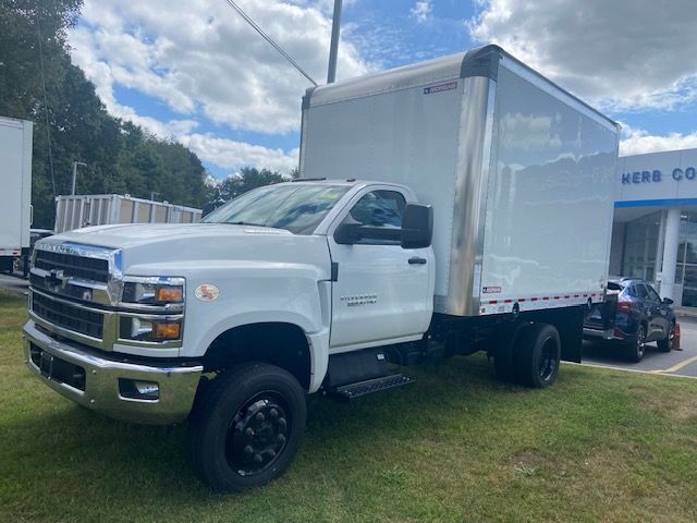
[[408, 384], [394, 365], [486, 351], [548, 387], [602, 300], [616, 154], [614, 122], [498, 47], [318, 87], [306, 179], [39, 242], [28, 366], [113, 417], [188, 416], [222, 491], [283, 473], [307, 393]]

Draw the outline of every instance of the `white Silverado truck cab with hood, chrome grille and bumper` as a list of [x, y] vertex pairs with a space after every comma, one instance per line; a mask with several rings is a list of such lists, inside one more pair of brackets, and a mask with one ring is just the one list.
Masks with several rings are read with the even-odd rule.
[[[246, 193], [203, 223], [47, 238], [30, 271], [29, 368], [88, 409], [139, 423], [185, 419], [197, 391], [209, 397], [218, 375], [254, 362], [282, 372], [296, 398], [316, 392], [331, 355], [428, 329], [432, 221], [415, 199], [395, 184], [296, 181]], [[334, 373], [333, 385], [384, 377], [382, 353], [366, 354], [365, 373]], [[271, 461], [261, 447], [253, 464]]]

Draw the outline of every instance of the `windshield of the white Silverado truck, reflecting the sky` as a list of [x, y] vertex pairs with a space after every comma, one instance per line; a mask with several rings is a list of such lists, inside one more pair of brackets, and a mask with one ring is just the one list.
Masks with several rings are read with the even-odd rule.
[[268, 185], [237, 196], [204, 223], [273, 227], [311, 234], [350, 185]]

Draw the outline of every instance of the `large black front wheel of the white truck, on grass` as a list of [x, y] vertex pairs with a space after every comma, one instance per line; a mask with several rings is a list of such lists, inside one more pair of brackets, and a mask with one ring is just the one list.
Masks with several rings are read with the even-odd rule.
[[189, 462], [220, 492], [258, 487], [285, 472], [306, 417], [305, 391], [293, 375], [264, 363], [233, 367], [197, 399], [187, 434]]

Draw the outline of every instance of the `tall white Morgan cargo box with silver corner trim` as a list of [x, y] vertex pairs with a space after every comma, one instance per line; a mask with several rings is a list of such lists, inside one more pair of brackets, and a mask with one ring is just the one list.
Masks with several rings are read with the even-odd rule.
[[433, 207], [435, 311], [602, 299], [617, 125], [496, 47], [309, 89], [301, 175], [412, 187]]

